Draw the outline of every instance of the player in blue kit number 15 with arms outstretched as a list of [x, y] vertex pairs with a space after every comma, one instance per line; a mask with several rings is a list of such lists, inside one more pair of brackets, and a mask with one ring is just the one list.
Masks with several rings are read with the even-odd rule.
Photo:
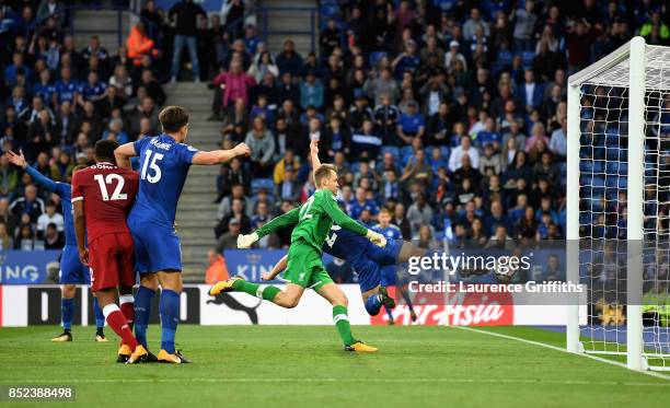
[[161, 351], [165, 363], [188, 362], [174, 348], [182, 292], [182, 250], [174, 229], [177, 201], [192, 164], [218, 165], [250, 153], [246, 144], [231, 150], [201, 152], [184, 144], [188, 135], [188, 113], [168, 106], [159, 114], [163, 133], [126, 143], [114, 151], [119, 167], [130, 168], [130, 158], [139, 156], [139, 194], [128, 226], [132, 233], [136, 270], [140, 288], [135, 300], [137, 340], [147, 347], [151, 299], [161, 285]]

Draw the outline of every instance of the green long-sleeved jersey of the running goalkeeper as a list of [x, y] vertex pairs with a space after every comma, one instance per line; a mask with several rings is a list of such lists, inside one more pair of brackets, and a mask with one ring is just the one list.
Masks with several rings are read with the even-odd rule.
[[263, 237], [284, 226], [296, 225], [291, 234], [291, 244], [302, 240], [321, 254], [323, 243], [333, 223], [360, 235], [368, 233], [368, 229], [339, 209], [335, 195], [326, 189], [316, 190], [302, 206], [277, 217], [259, 228], [256, 233]]

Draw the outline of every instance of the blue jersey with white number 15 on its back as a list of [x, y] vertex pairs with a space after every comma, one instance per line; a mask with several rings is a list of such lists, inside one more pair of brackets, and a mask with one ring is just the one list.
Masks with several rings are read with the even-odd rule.
[[134, 145], [139, 156], [140, 186], [130, 218], [172, 228], [188, 168], [198, 151], [164, 133]]

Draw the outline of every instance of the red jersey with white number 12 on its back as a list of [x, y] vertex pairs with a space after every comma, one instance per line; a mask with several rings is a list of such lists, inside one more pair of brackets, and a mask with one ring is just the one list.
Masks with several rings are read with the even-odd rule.
[[139, 187], [136, 172], [97, 163], [74, 173], [72, 202], [83, 200], [89, 242], [113, 232], [130, 233], [126, 218]]

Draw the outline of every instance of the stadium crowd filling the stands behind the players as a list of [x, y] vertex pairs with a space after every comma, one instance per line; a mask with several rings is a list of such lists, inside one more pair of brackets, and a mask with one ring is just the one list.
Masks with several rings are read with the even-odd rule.
[[[633, 35], [670, 40], [670, 8], [655, 0], [322, 0], [319, 50], [308, 55], [290, 39], [269, 53], [240, 24], [242, 0], [208, 19], [193, 1], [160, 10], [149, 0], [115, 50], [95, 36], [74, 44], [67, 10], [0, 7], [2, 150], [23, 149], [68, 182], [95, 141], [160, 132], [162, 83], [186, 78], [189, 59], [194, 80], [216, 90], [221, 147], [253, 151], [216, 180], [217, 252], [313, 193], [315, 139], [321, 161], [340, 170], [347, 212], [374, 224], [385, 208], [419, 246], [561, 238], [567, 75]], [[57, 196], [0, 159], [1, 248], [61, 246], [58, 211]], [[282, 231], [259, 246], [289, 241]]]

